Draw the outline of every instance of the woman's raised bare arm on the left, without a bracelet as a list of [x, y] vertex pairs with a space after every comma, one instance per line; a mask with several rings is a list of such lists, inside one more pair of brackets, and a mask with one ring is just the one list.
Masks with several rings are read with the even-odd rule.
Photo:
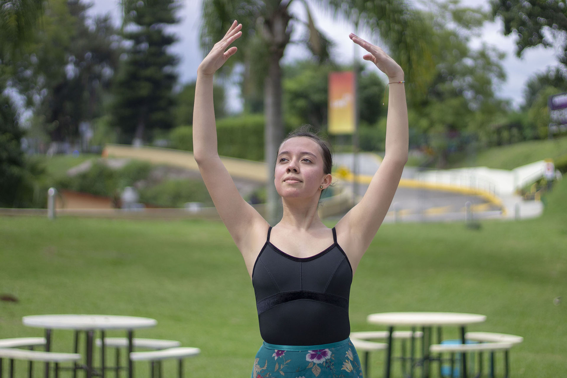
[[214, 45], [197, 70], [193, 110], [193, 154], [218, 214], [242, 252], [251, 273], [249, 260], [255, 257], [254, 253], [259, 252], [256, 250], [259, 248], [255, 240], [265, 239], [263, 234], [268, 230], [268, 223], [240, 196], [218, 156], [217, 125], [213, 108], [213, 75], [236, 53], [236, 47], [229, 46], [242, 35], [240, 29], [242, 24], [237, 24], [236, 21], [232, 23], [225, 37]]

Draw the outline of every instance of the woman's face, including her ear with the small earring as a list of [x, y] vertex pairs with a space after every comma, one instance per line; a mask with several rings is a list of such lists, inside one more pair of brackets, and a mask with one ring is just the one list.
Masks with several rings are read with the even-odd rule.
[[319, 145], [308, 137], [287, 139], [280, 146], [276, 159], [274, 184], [282, 197], [315, 196], [331, 183], [331, 175], [323, 173], [323, 157]]

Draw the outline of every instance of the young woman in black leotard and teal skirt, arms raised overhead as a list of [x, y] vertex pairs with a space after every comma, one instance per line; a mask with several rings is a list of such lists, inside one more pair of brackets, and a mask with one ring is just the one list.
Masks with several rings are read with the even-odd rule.
[[386, 155], [362, 200], [329, 230], [317, 206], [321, 190], [332, 181], [331, 152], [315, 134], [292, 133], [281, 143], [275, 168], [284, 215], [270, 227], [240, 196], [217, 151], [213, 75], [236, 53], [230, 44], [242, 35], [241, 29], [235, 21], [198, 67], [193, 151], [252, 279], [264, 339], [252, 378], [360, 377], [360, 362], [349, 340], [350, 283], [407, 162], [404, 71], [379, 47], [349, 35], [368, 52], [363, 58], [388, 76]]

